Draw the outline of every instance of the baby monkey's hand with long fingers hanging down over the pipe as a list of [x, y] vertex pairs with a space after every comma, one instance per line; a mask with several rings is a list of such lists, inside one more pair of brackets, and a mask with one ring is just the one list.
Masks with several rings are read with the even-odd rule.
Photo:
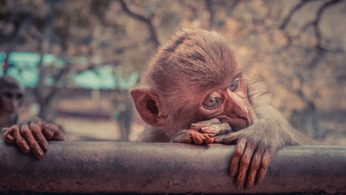
[[264, 179], [266, 169], [279, 148], [275, 129], [257, 122], [241, 131], [229, 133], [224, 144], [237, 143], [230, 165], [230, 175], [238, 188], [250, 189]]

